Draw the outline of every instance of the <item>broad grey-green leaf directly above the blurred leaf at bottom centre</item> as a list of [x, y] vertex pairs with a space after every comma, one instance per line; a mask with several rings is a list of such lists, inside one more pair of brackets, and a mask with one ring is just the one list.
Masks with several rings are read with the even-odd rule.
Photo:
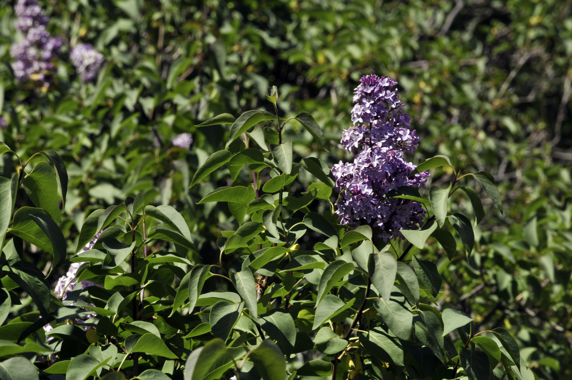
[[254, 321], [278, 343], [284, 354], [289, 356], [292, 353], [296, 344], [296, 325], [288, 312], [274, 309]]

